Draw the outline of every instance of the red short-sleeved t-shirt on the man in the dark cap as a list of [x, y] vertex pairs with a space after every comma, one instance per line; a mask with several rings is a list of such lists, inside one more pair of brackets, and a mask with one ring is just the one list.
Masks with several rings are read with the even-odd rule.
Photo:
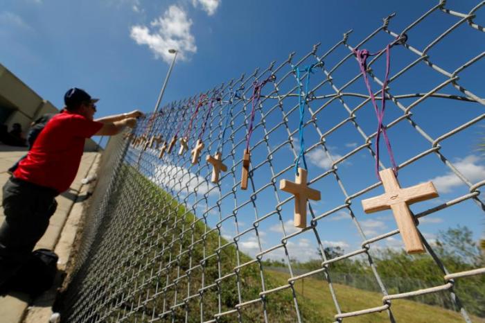
[[19, 180], [50, 187], [59, 193], [69, 189], [81, 163], [85, 139], [103, 123], [64, 111], [48, 121], [27, 157], [13, 175]]

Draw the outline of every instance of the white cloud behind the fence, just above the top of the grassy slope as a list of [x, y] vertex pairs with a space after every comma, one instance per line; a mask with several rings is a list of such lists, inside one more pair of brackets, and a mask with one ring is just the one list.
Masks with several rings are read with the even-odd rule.
[[[172, 165], [155, 166], [155, 175], [150, 180], [165, 189], [173, 189], [179, 193], [190, 193], [197, 189], [197, 193], [205, 194], [213, 189], [214, 185], [203, 177], [188, 171], [187, 168]], [[202, 183], [202, 184], [201, 184]], [[209, 195], [217, 195], [213, 189]]]

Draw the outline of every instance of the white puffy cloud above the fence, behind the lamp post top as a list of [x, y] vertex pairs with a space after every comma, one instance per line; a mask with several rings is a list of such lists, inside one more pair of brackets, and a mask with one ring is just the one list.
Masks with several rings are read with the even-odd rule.
[[191, 34], [192, 20], [182, 8], [170, 6], [150, 26], [132, 26], [130, 37], [136, 44], [147, 45], [155, 57], [171, 62], [173, 54], [168, 53], [168, 49], [177, 49], [177, 57], [181, 60], [187, 60], [188, 53], [197, 52], [195, 38]]

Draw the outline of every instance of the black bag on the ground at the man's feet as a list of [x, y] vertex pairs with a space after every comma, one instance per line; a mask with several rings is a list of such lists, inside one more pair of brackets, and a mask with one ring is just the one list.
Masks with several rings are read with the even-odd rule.
[[51, 250], [38, 249], [30, 254], [28, 261], [8, 282], [8, 289], [36, 297], [54, 283], [58, 272], [58, 255]]

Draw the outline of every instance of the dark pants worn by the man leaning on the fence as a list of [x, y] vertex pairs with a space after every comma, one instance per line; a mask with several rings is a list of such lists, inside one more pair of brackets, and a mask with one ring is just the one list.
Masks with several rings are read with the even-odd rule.
[[3, 186], [0, 227], [0, 286], [24, 264], [48, 227], [58, 203], [54, 189], [10, 177]]

